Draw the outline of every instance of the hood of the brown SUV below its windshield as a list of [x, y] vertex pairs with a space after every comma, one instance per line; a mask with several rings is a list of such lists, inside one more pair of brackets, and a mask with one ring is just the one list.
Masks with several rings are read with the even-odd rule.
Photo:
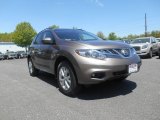
[[68, 41], [71, 42], [70, 46], [77, 45], [83, 46], [88, 49], [110, 49], [110, 48], [130, 48], [131, 46], [126, 43], [115, 42], [115, 41]]

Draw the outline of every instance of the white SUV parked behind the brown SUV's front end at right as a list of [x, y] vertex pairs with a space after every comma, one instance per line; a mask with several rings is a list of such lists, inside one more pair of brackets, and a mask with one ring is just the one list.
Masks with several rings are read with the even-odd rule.
[[139, 56], [152, 58], [153, 53], [158, 54], [158, 42], [154, 37], [137, 38], [130, 45]]

